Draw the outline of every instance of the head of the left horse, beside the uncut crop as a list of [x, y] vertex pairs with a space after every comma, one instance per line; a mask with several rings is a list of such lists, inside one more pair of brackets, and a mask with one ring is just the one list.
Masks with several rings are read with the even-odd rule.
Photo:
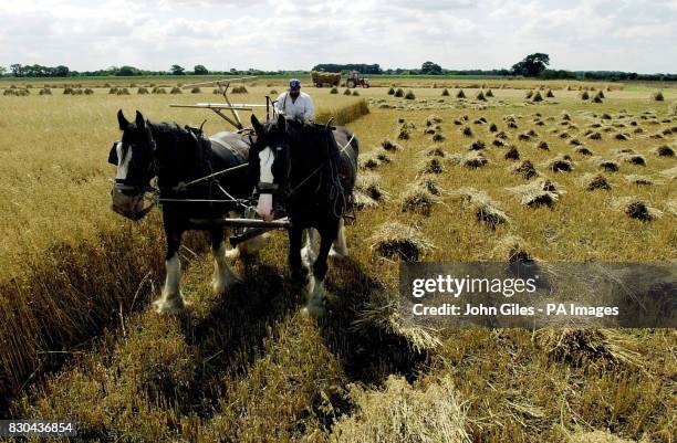
[[150, 191], [150, 180], [156, 176], [155, 140], [144, 116], [137, 110], [134, 123], [127, 122], [122, 109], [117, 122], [123, 131], [108, 155], [108, 162], [117, 166], [115, 184], [111, 191], [112, 209], [132, 220], [139, 220], [150, 207], [144, 208], [144, 196]]

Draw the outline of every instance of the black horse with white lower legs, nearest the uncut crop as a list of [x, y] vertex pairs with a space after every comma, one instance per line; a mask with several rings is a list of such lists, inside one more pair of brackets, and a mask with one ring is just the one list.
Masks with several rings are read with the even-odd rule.
[[[186, 187], [185, 183], [243, 166], [250, 138], [244, 134], [218, 133], [207, 139], [195, 128], [146, 120], [138, 110], [134, 123], [127, 122], [122, 109], [117, 113], [117, 120], [123, 131], [122, 140], [113, 144], [108, 156], [108, 162], [117, 166], [111, 192], [113, 210], [132, 220], [143, 218], [152, 208], [145, 205], [144, 196], [154, 190], [150, 181], [156, 177], [163, 201], [167, 276], [162, 298], [155, 302], [157, 310], [171, 313], [185, 305], [179, 288], [181, 268], [177, 252], [183, 233], [189, 229], [209, 230], [215, 257], [212, 288], [223, 293], [236, 281], [226, 262], [227, 255], [237, 255], [238, 251], [226, 251], [222, 228], [198, 228], [190, 223], [190, 219], [215, 219], [230, 211], [242, 214], [240, 204], [213, 200], [232, 198], [237, 201], [249, 197], [254, 183], [250, 181], [246, 167], [192, 186]], [[250, 251], [256, 246], [250, 243]], [[247, 246], [238, 247], [247, 250]]]

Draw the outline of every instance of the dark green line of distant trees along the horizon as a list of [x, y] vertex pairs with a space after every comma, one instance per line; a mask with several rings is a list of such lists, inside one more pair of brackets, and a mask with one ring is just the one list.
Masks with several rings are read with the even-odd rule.
[[[473, 75], [501, 77], [532, 77], [542, 80], [600, 80], [600, 81], [677, 81], [677, 74], [637, 74], [617, 71], [566, 71], [550, 70], [550, 55], [533, 53], [517, 62], [511, 68], [500, 70], [447, 70], [439, 64], [426, 61], [419, 68], [382, 68], [377, 63], [321, 63], [312, 71], [341, 72], [358, 71], [364, 75]], [[246, 71], [231, 68], [229, 71], [210, 71], [198, 64], [192, 71], [174, 64], [167, 71], [146, 71], [135, 66], [110, 66], [97, 71], [71, 71], [67, 66], [41, 66], [12, 64], [9, 71], [0, 66], [0, 76], [13, 77], [71, 77], [71, 76], [135, 76], [135, 75], [291, 75], [309, 74], [309, 71], [263, 71], [249, 68]]]

